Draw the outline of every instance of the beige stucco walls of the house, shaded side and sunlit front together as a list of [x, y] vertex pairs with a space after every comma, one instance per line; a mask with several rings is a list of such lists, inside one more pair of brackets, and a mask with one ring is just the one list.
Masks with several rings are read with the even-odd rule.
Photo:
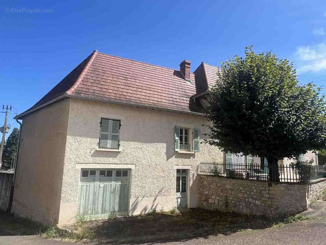
[[[99, 149], [101, 118], [121, 121], [119, 150]], [[175, 151], [174, 126], [208, 133], [206, 117], [67, 98], [23, 118], [12, 210], [44, 224], [74, 221], [81, 169], [128, 169], [128, 214], [176, 206], [176, 170], [187, 170], [187, 206], [198, 206], [199, 164], [217, 147]], [[49, 130], [51, 129], [51, 130]]]

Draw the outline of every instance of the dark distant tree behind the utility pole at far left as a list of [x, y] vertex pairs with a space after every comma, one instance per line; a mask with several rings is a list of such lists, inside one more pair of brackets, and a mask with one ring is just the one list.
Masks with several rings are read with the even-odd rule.
[[6, 140], [6, 144], [3, 148], [2, 153], [2, 162], [4, 164], [4, 167], [10, 167], [11, 162], [13, 160], [13, 156], [15, 155], [17, 151], [17, 141], [19, 137], [19, 129], [14, 128], [11, 132], [11, 134], [8, 136]]

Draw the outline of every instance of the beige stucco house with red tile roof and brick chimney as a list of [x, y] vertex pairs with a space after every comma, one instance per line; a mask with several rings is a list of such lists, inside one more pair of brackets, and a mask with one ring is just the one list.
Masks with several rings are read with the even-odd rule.
[[22, 120], [12, 212], [44, 224], [77, 215], [197, 207], [208, 144], [204, 96], [218, 67], [169, 69], [94, 51]]

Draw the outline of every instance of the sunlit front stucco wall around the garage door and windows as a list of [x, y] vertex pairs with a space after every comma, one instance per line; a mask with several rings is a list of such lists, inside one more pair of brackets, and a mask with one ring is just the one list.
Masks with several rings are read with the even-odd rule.
[[[101, 117], [121, 120], [121, 151], [98, 150]], [[176, 152], [174, 126], [199, 128], [202, 142], [207, 128], [201, 125], [206, 123], [198, 115], [72, 99], [59, 222], [70, 222], [77, 214], [81, 168], [130, 169], [130, 215], [176, 206], [176, 169], [188, 169], [188, 203], [197, 207], [199, 163], [222, 161], [223, 153], [207, 144], [193, 154]]]

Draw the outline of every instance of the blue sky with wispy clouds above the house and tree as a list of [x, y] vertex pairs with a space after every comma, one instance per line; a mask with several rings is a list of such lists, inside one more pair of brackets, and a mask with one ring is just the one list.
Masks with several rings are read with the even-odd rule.
[[326, 84], [325, 1], [3, 1], [0, 18], [0, 105], [18, 113], [94, 49], [174, 69], [189, 59], [194, 71], [253, 45]]

